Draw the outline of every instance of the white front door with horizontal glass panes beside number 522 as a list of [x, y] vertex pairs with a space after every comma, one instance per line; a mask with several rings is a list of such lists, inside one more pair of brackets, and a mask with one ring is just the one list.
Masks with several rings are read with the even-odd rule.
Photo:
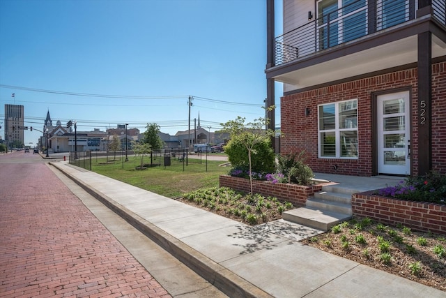
[[410, 174], [410, 94], [378, 96], [378, 173]]

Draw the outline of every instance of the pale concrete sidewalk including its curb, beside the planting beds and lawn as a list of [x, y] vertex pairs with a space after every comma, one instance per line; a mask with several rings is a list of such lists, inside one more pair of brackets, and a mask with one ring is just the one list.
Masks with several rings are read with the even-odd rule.
[[229, 297], [446, 297], [300, 244], [319, 230], [282, 220], [250, 227], [66, 162], [51, 164]]

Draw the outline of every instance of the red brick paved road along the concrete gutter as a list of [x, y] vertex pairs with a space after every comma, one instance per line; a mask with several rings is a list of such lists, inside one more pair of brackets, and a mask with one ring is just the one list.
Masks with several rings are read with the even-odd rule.
[[0, 297], [171, 297], [45, 163], [1, 163], [0, 206]]

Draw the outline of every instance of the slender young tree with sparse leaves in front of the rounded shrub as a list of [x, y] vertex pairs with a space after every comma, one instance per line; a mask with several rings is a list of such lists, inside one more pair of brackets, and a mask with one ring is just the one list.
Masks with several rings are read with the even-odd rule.
[[[274, 106], [268, 107], [268, 111], [273, 110]], [[263, 142], [266, 138], [274, 137], [275, 132], [271, 129], [265, 129], [269, 123], [267, 118], [254, 119], [252, 122], [245, 124], [245, 117], [238, 116], [235, 120], [227, 121], [223, 126], [222, 131], [229, 133], [231, 139], [236, 137], [241, 142], [248, 152], [249, 164], [249, 184], [252, 193], [252, 155], [256, 154], [256, 145]]]

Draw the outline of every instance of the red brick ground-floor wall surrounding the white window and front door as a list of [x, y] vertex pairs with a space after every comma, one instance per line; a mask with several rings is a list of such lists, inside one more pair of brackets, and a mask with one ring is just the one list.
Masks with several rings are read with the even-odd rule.
[[[432, 67], [432, 161], [433, 170], [446, 173], [446, 62]], [[372, 94], [408, 88], [412, 91], [412, 137], [410, 140], [413, 174], [417, 173], [417, 68], [367, 77], [281, 98], [281, 154], [306, 151], [306, 162], [314, 172], [372, 175]], [[355, 160], [318, 158], [317, 105], [357, 98], [358, 149]], [[310, 110], [305, 117], [305, 107]], [[337, 165], [337, 169], [334, 169]]]

